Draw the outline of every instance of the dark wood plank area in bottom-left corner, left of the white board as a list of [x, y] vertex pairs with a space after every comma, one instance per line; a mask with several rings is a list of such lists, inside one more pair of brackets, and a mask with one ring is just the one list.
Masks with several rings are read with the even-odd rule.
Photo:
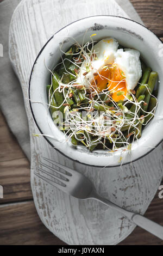
[[41, 223], [33, 201], [0, 206], [0, 245], [64, 245]]

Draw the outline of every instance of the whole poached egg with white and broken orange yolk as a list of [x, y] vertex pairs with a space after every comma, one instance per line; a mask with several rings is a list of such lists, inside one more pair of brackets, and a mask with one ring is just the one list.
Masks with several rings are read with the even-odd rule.
[[126, 100], [142, 76], [140, 52], [118, 46], [114, 38], [99, 41], [92, 49], [91, 61], [84, 60], [76, 81], [100, 92], [108, 89], [116, 102]]

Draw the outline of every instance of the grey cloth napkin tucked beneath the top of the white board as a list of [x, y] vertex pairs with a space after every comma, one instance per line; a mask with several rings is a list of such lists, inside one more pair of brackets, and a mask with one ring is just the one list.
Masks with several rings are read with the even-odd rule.
[[[106, 4], [109, 4], [109, 1], [110, 0], [106, 0]], [[30, 160], [29, 127], [24, 108], [22, 90], [12, 70], [8, 54], [10, 20], [14, 9], [20, 2], [21, 0], [4, 0], [0, 3], [0, 44], [3, 45], [3, 57], [0, 57], [0, 107], [12, 133], [14, 133], [22, 150]], [[132, 20], [142, 23], [142, 20], [129, 0], [115, 0], [115, 2], [121, 6]], [[91, 13], [89, 16], [91, 16]]]

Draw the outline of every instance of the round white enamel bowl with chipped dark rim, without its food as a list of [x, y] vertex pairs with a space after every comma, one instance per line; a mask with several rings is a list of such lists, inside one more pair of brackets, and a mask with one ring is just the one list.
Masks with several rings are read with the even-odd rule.
[[[60, 44], [64, 41], [63, 49], [66, 51], [72, 45], [72, 39], [82, 43], [85, 35], [85, 42], [90, 39], [90, 35], [97, 34], [94, 40], [100, 40], [106, 36], [112, 36], [127, 48], [135, 48], [140, 51], [146, 64], [151, 66], [153, 71], [159, 74], [159, 105], [156, 109], [156, 116], [153, 118], [142, 132], [142, 137], [135, 142], [131, 154], [123, 154], [123, 164], [140, 159], [155, 148], [163, 138], [163, 57], [161, 52], [161, 41], [146, 27], [134, 21], [115, 16], [92, 16], [75, 21], [70, 25], [60, 29], [43, 46], [37, 56], [29, 82], [30, 106], [34, 120], [40, 132], [47, 141], [60, 151], [60, 153], [74, 161], [89, 164], [91, 166], [118, 166], [120, 165], [121, 153], [108, 153], [106, 150], [89, 152], [86, 148], [74, 148], [66, 142], [64, 133], [58, 130], [53, 124], [51, 114], [48, 111], [46, 85], [50, 81], [50, 72], [46, 66], [52, 70], [60, 60]], [[46, 66], [45, 66], [46, 63]], [[37, 102], [37, 103], [34, 103]], [[42, 102], [42, 103], [39, 103]], [[52, 150], [54, 150], [52, 148]]]

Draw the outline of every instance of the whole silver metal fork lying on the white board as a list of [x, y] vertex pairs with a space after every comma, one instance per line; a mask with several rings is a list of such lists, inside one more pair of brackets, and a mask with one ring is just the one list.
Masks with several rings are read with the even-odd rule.
[[[146, 229], [148, 232], [158, 236], [163, 240], [163, 227], [142, 215], [135, 214], [134, 212], [127, 211], [120, 206], [110, 202], [108, 199], [102, 198], [96, 192], [95, 187], [92, 182], [87, 179], [83, 174], [72, 170], [66, 166], [63, 166], [60, 163], [49, 160], [46, 157], [43, 157], [45, 161], [57, 166], [60, 170], [57, 170], [54, 167], [49, 166], [46, 163], [41, 162], [41, 166], [45, 167], [44, 169], [38, 167], [37, 171], [34, 174], [41, 178], [42, 180], [48, 182], [54, 187], [59, 188], [59, 190], [64, 191], [65, 193], [78, 198], [78, 199], [95, 199], [99, 202], [109, 206], [111, 209], [117, 210], [123, 216], [126, 216], [130, 221], [134, 222], [139, 227]], [[46, 175], [46, 176], [45, 176]]]

